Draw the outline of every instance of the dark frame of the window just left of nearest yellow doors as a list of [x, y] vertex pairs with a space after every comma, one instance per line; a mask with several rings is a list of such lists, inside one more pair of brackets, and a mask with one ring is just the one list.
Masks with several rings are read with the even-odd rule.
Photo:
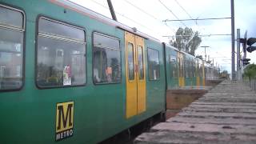
[[[97, 82], [94, 82], [94, 33], [96, 34], [100, 34], [104, 37], [107, 37], [107, 38], [114, 38], [116, 40], [118, 40], [119, 42], [119, 53], [120, 53], [120, 81], [119, 82], [101, 82], [101, 83], [97, 83]], [[102, 33], [98, 30], [93, 30], [92, 33], [91, 33], [91, 57], [92, 57], [92, 64], [91, 64], [91, 69], [92, 69], [92, 82], [94, 83], [94, 86], [101, 86], [101, 85], [112, 85], [112, 84], [119, 84], [119, 83], [122, 83], [122, 47], [121, 47], [121, 41], [120, 41], [120, 38], [117, 38], [117, 37], [114, 37], [113, 35], [110, 35], [110, 34], [106, 34], [106, 33]], [[95, 46], [96, 47], [96, 46]], [[109, 48], [109, 47], [98, 47], [100, 49], [109, 49], [109, 50], [117, 50], [117, 49], [113, 49], [113, 48]]]

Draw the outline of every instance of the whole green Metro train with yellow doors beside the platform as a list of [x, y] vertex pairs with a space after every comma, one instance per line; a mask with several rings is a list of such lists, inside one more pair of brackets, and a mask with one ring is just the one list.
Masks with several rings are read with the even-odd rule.
[[0, 143], [102, 142], [164, 113], [166, 89], [210, 78], [190, 54], [66, 0], [0, 0], [0, 33]]

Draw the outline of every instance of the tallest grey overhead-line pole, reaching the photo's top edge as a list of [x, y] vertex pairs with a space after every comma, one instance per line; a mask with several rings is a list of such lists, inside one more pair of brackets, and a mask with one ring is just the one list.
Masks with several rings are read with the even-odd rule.
[[234, 74], [234, 0], [230, 0], [230, 6], [231, 6], [231, 51], [232, 51], [232, 62], [231, 62], [231, 77], [232, 80], [235, 80], [235, 74]]

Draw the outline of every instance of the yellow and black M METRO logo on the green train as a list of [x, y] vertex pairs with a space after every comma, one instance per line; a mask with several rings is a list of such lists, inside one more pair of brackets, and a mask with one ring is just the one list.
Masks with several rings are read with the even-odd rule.
[[56, 136], [60, 141], [73, 136], [74, 102], [62, 102], [56, 105]]

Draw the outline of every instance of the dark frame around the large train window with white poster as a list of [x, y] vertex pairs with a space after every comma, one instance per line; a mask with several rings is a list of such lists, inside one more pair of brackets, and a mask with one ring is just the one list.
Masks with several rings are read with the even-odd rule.
[[[37, 82], [37, 74], [38, 74], [38, 37], [39, 37], [39, 19], [40, 18], [45, 18], [46, 20], [49, 20], [51, 22], [57, 22], [59, 24], [62, 24], [62, 25], [66, 25], [66, 26], [71, 26], [71, 27], [74, 27], [74, 28], [77, 28], [77, 29], [80, 29], [84, 32], [85, 34], [85, 82], [82, 84], [82, 85], [70, 85], [70, 86], [38, 86], [38, 82]], [[77, 86], [86, 86], [87, 82], [88, 82], [88, 78], [87, 78], [87, 35], [86, 35], [86, 28], [83, 27], [83, 26], [78, 26], [77, 24], [74, 24], [74, 23], [70, 23], [70, 22], [65, 22], [65, 21], [62, 21], [62, 20], [59, 20], [59, 19], [56, 19], [56, 18], [51, 18], [51, 17], [48, 17], [46, 15], [43, 15], [43, 14], [39, 14], [37, 19], [36, 19], [36, 30], [35, 30], [35, 64], [34, 64], [34, 69], [35, 69], [35, 73], [34, 73], [34, 83], [35, 83], [35, 86], [39, 89], [39, 90], [44, 90], [44, 89], [58, 89], [58, 88], [66, 88], [66, 87], [77, 87]], [[56, 40], [55, 38], [51, 38], [51, 39], [54, 39]], [[63, 38], [65, 39], [65, 38]], [[63, 41], [62, 38], [58, 39], [60, 41]], [[67, 38], [68, 39], [68, 38]], [[70, 38], [71, 39], [71, 38]], [[71, 39], [71, 41], [64, 41], [64, 42], [73, 42], [74, 39]]]

